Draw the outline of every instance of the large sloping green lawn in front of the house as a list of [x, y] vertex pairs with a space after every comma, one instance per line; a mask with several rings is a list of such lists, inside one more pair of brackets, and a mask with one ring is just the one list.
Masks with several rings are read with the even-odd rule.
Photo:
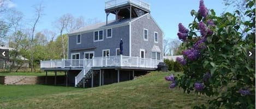
[[[169, 89], [153, 72], [139, 79], [94, 88], [56, 86], [0, 86], [0, 108], [192, 108], [206, 103], [203, 95]], [[15, 91], [16, 90], [16, 91]]]

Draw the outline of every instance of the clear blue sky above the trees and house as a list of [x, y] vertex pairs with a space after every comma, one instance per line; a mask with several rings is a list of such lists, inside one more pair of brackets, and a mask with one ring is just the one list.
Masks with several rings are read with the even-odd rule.
[[[198, 10], [199, 0], [144, 0], [151, 5], [151, 15], [158, 25], [164, 31], [165, 39], [177, 39], [178, 23], [182, 23], [185, 27], [193, 21], [190, 15], [192, 9]], [[217, 15], [220, 15], [225, 5], [223, 0], [205, 0], [207, 9], [214, 9]], [[37, 31], [44, 29], [55, 30], [52, 25], [58, 17], [64, 14], [72, 14], [74, 17], [84, 16], [85, 20], [97, 18], [101, 22], [105, 22], [105, 0], [13, 0], [9, 7], [16, 8], [23, 12], [27, 20], [34, 15], [34, 5], [43, 4], [44, 15], [41, 17], [37, 26]], [[231, 8], [231, 7], [230, 7]], [[228, 8], [226, 11], [233, 11]], [[111, 16], [114, 19], [114, 16]]]

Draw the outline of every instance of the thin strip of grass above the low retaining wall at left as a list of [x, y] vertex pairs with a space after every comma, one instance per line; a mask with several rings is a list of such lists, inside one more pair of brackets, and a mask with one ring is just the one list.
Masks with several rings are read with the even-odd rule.
[[[48, 72], [47, 75], [53, 76], [54, 72]], [[57, 75], [64, 75], [63, 72], [57, 72]], [[35, 72], [8, 72], [8, 73], [0, 73], [0, 76], [45, 76], [45, 72], [43, 73], [35, 73]]]

